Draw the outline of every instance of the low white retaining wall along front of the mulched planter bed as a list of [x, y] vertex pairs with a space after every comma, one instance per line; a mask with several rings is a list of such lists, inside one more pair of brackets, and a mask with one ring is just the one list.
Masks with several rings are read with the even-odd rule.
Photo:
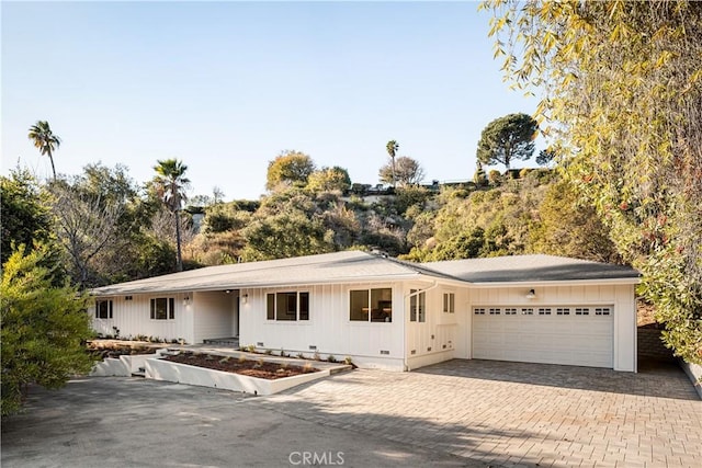
[[329, 376], [329, 369], [274, 380], [249, 377], [222, 370], [206, 369], [172, 363], [159, 358], [150, 358], [145, 363], [146, 378], [174, 381], [177, 384], [197, 385], [201, 387], [222, 388], [225, 390], [245, 391], [253, 395], [273, 395], [288, 388]]

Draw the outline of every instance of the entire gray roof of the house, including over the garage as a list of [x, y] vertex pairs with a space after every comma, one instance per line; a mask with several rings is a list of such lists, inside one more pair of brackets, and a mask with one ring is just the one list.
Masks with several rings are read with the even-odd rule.
[[630, 279], [626, 266], [552, 255], [518, 255], [432, 263], [409, 263], [348, 251], [293, 259], [207, 266], [92, 289], [97, 296], [191, 290], [226, 290], [312, 284], [445, 279], [468, 283]]

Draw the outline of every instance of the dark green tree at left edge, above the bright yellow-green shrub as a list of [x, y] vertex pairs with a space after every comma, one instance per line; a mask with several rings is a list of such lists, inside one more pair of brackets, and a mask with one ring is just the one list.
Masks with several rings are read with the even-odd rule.
[[1, 263], [10, 258], [13, 244], [33, 246], [49, 239], [52, 224], [45, 198], [27, 170], [18, 169], [9, 178], [0, 176]]

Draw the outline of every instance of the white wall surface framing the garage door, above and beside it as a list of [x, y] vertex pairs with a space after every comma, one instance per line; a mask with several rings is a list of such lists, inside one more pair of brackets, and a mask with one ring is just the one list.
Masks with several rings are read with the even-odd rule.
[[[582, 285], [533, 287], [536, 296], [526, 299], [531, 286], [499, 286], [472, 288], [468, 316], [474, 306], [577, 306], [613, 305], [613, 367], [614, 370], [636, 372], [636, 304], [634, 285]], [[466, 331], [468, 350], [471, 330]], [[472, 357], [472, 356], [471, 356]]]

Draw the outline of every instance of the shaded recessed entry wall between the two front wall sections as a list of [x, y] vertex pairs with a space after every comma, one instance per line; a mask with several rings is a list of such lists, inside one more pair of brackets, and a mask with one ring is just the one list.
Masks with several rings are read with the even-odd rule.
[[228, 338], [234, 330], [235, 294], [225, 292], [195, 293], [193, 343], [211, 338]]

